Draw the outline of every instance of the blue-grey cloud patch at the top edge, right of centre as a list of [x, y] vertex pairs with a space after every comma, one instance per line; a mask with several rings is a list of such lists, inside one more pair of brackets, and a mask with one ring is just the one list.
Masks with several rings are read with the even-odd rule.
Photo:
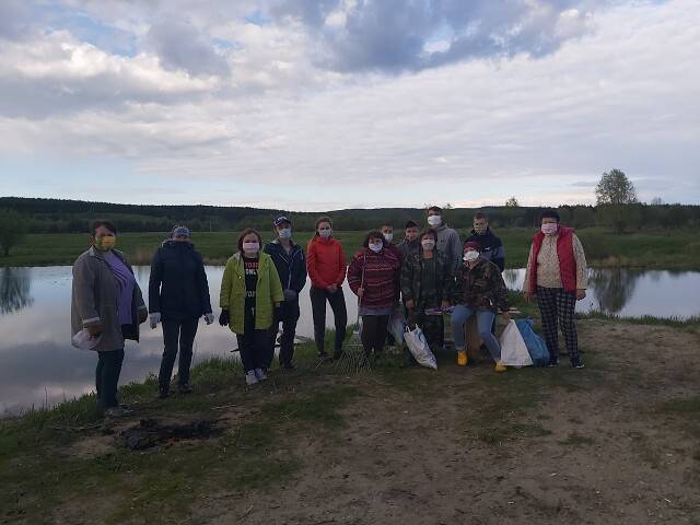
[[270, 10], [317, 39], [318, 63], [339, 71], [416, 71], [470, 58], [541, 57], [592, 28], [572, 0], [296, 0]]

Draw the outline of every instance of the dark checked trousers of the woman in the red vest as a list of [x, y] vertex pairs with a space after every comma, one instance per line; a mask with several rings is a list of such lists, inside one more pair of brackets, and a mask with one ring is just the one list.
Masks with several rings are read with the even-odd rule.
[[562, 288], [537, 287], [537, 305], [542, 316], [545, 341], [549, 350], [549, 360], [553, 362], [559, 357], [559, 336], [557, 325], [561, 328], [569, 351], [569, 359], [578, 364], [579, 337], [576, 334], [576, 296]]

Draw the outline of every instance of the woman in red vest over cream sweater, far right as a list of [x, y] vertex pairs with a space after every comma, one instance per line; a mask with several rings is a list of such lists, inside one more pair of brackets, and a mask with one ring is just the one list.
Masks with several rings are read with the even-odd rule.
[[537, 298], [549, 366], [559, 364], [559, 324], [571, 365], [583, 369], [574, 310], [576, 301], [586, 296], [586, 257], [573, 229], [559, 224], [559, 213], [555, 210], [546, 210], [540, 224], [540, 231], [533, 237], [523, 291], [528, 301], [533, 295]]

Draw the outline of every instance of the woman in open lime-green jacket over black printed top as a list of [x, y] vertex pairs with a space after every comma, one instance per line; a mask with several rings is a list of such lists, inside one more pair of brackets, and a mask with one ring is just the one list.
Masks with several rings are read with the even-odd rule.
[[284, 295], [272, 258], [260, 250], [262, 238], [244, 230], [238, 252], [226, 262], [221, 281], [219, 324], [231, 328], [238, 341], [248, 385], [266, 380], [272, 362], [270, 326]]

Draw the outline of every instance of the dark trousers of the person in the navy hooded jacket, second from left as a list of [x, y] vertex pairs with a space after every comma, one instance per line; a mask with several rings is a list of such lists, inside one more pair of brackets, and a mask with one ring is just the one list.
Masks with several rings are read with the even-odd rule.
[[199, 318], [189, 319], [163, 319], [163, 359], [161, 371], [158, 374], [158, 384], [161, 388], [167, 388], [173, 376], [173, 365], [179, 349], [179, 362], [177, 363], [177, 384], [189, 383], [189, 366], [192, 362], [192, 343], [197, 335]]

